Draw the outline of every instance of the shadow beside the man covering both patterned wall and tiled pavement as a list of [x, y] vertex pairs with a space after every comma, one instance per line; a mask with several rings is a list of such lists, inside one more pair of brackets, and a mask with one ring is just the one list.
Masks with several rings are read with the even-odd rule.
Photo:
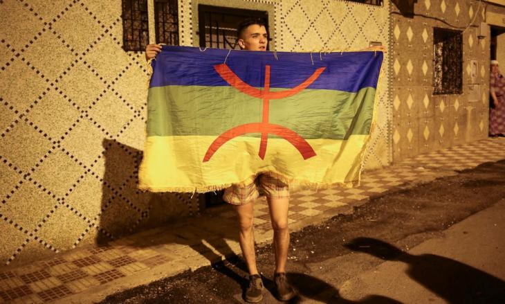
[[223, 227], [235, 225], [235, 219], [228, 219], [230, 222], [225, 223], [226, 219], [217, 222], [191, 218], [199, 213], [198, 195], [191, 198], [187, 193], [144, 193], [138, 190], [138, 168], [143, 152], [109, 139], [102, 143], [105, 169], [96, 244], [107, 246], [112, 240], [139, 231], [190, 221], [194, 224], [185, 225], [184, 229], [155, 229], [132, 246], [156, 249], [170, 244], [186, 245], [211, 263], [220, 261], [221, 256], [210, 247], [223, 256], [234, 254], [225, 239], [238, 241], [236, 230]]

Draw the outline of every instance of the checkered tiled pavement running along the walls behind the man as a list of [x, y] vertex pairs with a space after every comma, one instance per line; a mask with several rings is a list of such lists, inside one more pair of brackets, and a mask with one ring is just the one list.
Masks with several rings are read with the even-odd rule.
[[[473, 168], [479, 163], [505, 159], [505, 138], [488, 138], [407, 159], [395, 166], [365, 172], [356, 188], [330, 188], [292, 194], [288, 220], [293, 230], [315, 224], [352, 206], [367, 202], [398, 186], [430, 181]], [[271, 240], [268, 206], [255, 206], [257, 242]], [[0, 269], [0, 303], [86, 303], [111, 292], [196, 269], [239, 253], [235, 214], [229, 206], [212, 208], [185, 223], [152, 229], [109, 243], [104, 247], [80, 247], [14, 269]]]

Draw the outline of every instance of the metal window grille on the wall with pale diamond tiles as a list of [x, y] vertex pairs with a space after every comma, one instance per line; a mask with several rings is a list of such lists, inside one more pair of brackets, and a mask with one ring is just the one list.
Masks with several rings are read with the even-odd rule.
[[433, 29], [434, 94], [463, 91], [463, 35], [459, 30]]

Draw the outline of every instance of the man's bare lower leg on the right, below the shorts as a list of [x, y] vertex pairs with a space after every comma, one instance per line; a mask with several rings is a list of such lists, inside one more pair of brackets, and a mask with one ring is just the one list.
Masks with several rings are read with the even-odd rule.
[[289, 229], [288, 209], [289, 198], [276, 199], [267, 197], [270, 208], [270, 220], [273, 227], [273, 246], [275, 249], [275, 272], [286, 272], [286, 260], [288, 259]]

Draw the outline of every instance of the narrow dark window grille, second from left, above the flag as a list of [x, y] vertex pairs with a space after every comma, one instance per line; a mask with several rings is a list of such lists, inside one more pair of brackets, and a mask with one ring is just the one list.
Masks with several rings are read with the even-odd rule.
[[154, 22], [156, 24], [156, 43], [178, 46], [177, 0], [155, 0]]

